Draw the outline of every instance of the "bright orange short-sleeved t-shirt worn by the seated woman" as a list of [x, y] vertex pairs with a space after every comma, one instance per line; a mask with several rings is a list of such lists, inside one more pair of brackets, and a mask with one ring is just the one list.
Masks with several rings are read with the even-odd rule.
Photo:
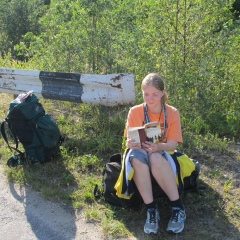
[[[182, 138], [182, 128], [181, 128], [181, 121], [180, 121], [180, 114], [179, 111], [168, 105], [165, 104], [166, 111], [167, 111], [167, 128], [166, 128], [166, 141], [177, 141], [178, 143], [183, 142]], [[151, 122], [159, 122], [161, 128], [164, 126], [164, 111], [162, 109], [161, 113], [151, 113], [148, 109], [148, 116]], [[145, 124], [144, 118], [144, 104], [136, 105], [130, 108], [127, 117], [126, 123], [126, 131], [125, 137], [128, 136], [127, 130], [130, 127], [140, 127]]]

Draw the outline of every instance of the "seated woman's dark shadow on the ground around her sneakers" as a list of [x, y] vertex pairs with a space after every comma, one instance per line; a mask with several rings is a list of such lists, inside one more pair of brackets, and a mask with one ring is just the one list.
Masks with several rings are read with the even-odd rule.
[[[169, 234], [166, 232], [167, 223], [170, 218], [171, 209], [166, 198], [158, 199], [160, 211], [160, 227], [157, 235], [146, 235], [143, 226], [146, 220], [146, 209], [121, 210], [124, 218], [118, 218], [136, 239], [165, 239], [165, 240], [239, 240], [240, 232], [237, 227], [229, 221], [221, 203], [221, 196], [208, 184], [199, 181], [199, 193], [186, 193], [182, 195], [186, 207], [187, 220], [185, 230], [180, 234]], [[119, 214], [116, 208], [116, 216]], [[122, 215], [121, 214], [121, 215]]]

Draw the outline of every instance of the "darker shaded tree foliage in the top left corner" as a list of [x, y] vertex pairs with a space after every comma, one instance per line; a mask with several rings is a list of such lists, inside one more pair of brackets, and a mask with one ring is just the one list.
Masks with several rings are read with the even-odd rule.
[[[38, 20], [44, 15], [45, 9], [43, 0], [2, 0], [0, 52], [5, 54], [8, 49], [11, 49], [12, 55], [19, 60], [28, 59], [18, 51], [18, 44], [27, 33], [28, 35], [39, 34], [41, 29]], [[28, 47], [29, 38], [26, 38], [25, 44]]]

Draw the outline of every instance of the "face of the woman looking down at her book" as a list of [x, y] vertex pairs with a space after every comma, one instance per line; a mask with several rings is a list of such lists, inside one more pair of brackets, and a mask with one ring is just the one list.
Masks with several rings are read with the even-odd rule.
[[164, 95], [164, 90], [158, 90], [154, 86], [147, 86], [143, 90], [143, 99], [149, 107], [158, 107], [161, 105], [161, 98]]

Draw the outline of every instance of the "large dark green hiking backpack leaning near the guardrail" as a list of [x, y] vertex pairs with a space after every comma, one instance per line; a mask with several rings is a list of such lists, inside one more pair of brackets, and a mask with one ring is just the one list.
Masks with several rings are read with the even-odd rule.
[[[59, 152], [63, 141], [57, 124], [45, 113], [32, 91], [20, 94], [10, 103], [1, 133], [8, 147], [18, 152], [8, 160], [9, 167], [50, 161]], [[15, 147], [10, 146], [10, 138]], [[25, 153], [18, 149], [19, 142]]]

